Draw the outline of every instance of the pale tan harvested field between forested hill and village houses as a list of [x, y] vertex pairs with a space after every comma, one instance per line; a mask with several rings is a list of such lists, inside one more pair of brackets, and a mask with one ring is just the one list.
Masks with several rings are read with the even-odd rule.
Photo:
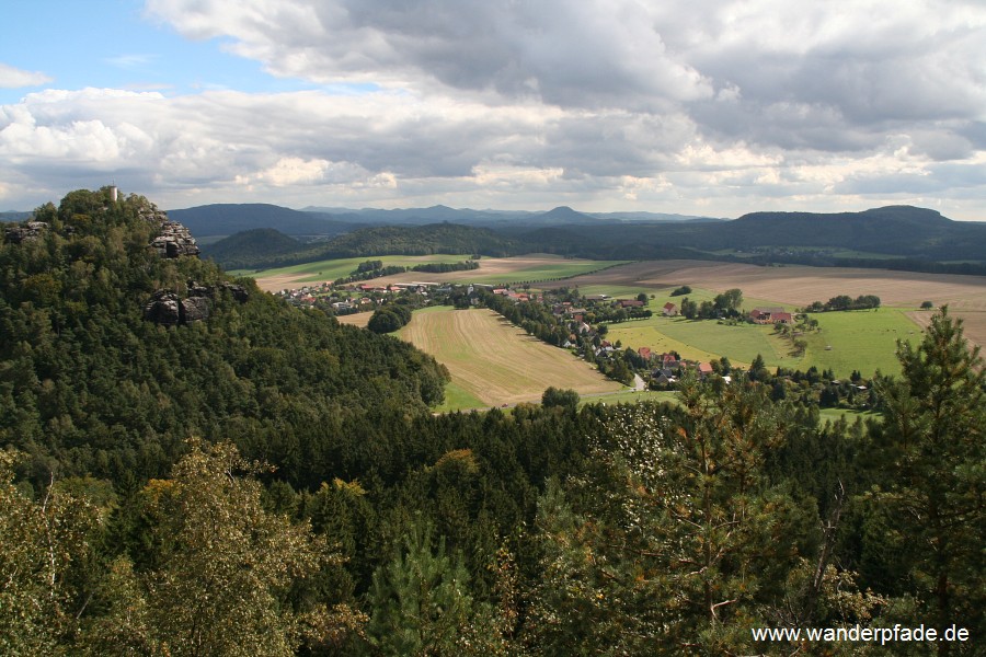
[[576, 390], [580, 395], [624, 389], [489, 310], [421, 310], [398, 335], [451, 372], [444, 410], [539, 402], [551, 385]]

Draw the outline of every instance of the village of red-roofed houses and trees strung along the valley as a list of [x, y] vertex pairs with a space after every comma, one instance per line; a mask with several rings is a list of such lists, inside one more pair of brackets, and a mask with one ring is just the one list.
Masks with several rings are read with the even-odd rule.
[[[657, 351], [649, 346], [624, 345], [608, 337], [609, 327], [621, 322], [644, 320], [660, 314], [664, 318], [688, 315], [692, 320], [712, 320], [730, 323], [772, 325], [775, 332], [791, 341], [794, 351], [803, 349], [800, 336], [817, 330], [817, 321], [804, 313], [793, 313], [780, 307], [757, 307], [741, 310], [742, 292], [730, 290], [715, 301], [701, 304], [683, 298], [678, 303], [667, 301], [652, 309], [652, 298], [640, 293], [634, 298], [618, 298], [606, 293], [580, 295], [577, 288], [561, 287], [551, 290], [531, 289], [530, 285], [455, 285], [448, 283], [313, 283], [297, 289], [280, 290], [277, 296], [288, 303], [307, 309], [319, 309], [329, 314], [344, 316], [385, 310], [392, 304], [412, 309], [433, 306], [455, 308], [489, 308], [529, 335], [550, 345], [564, 348], [574, 356], [594, 365], [606, 377], [632, 385], [634, 382], [650, 390], [673, 390], [687, 371], [704, 379], [715, 376], [730, 383], [738, 373], [729, 358], [697, 360], [683, 358], [675, 350]], [[683, 312], [684, 309], [684, 312]], [[865, 393], [863, 381], [840, 382], [826, 372], [778, 372], [788, 382], [778, 388], [803, 394], [802, 381], [814, 391], [815, 400], [838, 403], [847, 396]], [[754, 364], [752, 374], [764, 377], [763, 364]], [[757, 371], [759, 370], [759, 371]], [[834, 389], [834, 390], [827, 390]]]

